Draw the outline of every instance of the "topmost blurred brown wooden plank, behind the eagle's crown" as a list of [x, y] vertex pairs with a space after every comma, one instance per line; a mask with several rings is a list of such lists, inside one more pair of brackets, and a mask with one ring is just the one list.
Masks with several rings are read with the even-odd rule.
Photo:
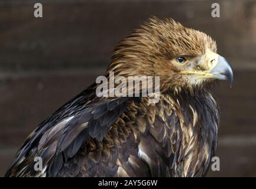
[[[0, 69], [105, 67], [115, 44], [151, 15], [173, 17], [207, 32], [236, 67], [256, 60], [256, 1], [46, 1], [34, 18], [33, 1], [0, 6]], [[254, 66], [255, 67], [255, 66]]]

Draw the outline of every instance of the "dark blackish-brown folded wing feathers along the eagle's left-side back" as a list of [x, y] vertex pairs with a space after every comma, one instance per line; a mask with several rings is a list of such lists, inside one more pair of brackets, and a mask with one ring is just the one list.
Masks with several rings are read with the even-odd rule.
[[[99, 98], [93, 86], [89, 87], [50, 115], [31, 133], [5, 176], [40, 176], [31, 166], [37, 156], [43, 159], [48, 176], [56, 176], [67, 159], [74, 157], [89, 137], [102, 141], [109, 126], [127, 108], [128, 100]], [[99, 158], [100, 154], [94, 157], [96, 161]]]

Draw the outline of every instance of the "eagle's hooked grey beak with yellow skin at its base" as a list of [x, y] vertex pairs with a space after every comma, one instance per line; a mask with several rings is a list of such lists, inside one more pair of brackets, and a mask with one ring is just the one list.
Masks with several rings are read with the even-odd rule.
[[226, 59], [219, 54], [208, 51], [206, 53], [209, 70], [207, 73], [212, 74], [212, 78], [219, 80], [229, 80], [230, 86], [233, 84], [233, 71]]

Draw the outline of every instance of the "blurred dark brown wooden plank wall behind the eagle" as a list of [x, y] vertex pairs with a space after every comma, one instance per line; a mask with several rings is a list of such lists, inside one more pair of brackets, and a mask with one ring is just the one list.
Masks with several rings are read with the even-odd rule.
[[[43, 18], [34, 18], [34, 4]], [[213, 2], [221, 17], [212, 18]], [[104, 73], [115, 44], [151, 15], [204, 31], [234, 67], [234, 86], [214, 89], [221, 106], [209, 177], [256, 177], [255, 0], [0, 0], [0, 176], [43, 119]]]

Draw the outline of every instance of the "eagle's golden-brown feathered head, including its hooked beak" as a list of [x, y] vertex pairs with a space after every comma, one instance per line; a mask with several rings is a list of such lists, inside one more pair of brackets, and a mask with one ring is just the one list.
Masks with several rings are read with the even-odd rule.
[[232, 84], [228, 61], [204, 32], [186, 28], [171, 18], [150, 18], [120, 41], [109, 71], [122, 76], [160, 76], [160, 89], [202, 89], [215, 80]]

